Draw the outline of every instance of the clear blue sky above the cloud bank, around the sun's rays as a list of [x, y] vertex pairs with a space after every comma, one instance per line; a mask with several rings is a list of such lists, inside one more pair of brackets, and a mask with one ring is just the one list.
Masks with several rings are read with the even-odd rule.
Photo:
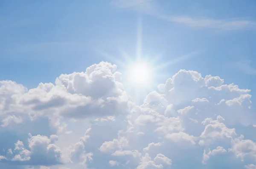
[[[247, 3], [161, 0], [155, 8], [165, 16], [206, 18], [225, 23], [230, 20], [253, 22], [256, 19], [254, 5], [253, 0]], [[93, 63], [108, 61], [94, 49], [120, 57], [116, 49], [122, 48], [133, 56], [138, 12], [131, 8], [116, 8], [101, 0], [90, 3], [76, 0], [61, 3], [3, 1], [0, 15], [3, 23], [0, 67], [3, 73], [0, 79], [14, 80], [31, 88], [41, 82], [53, 82], [61, 73], [81, 72]], [[195, 58], [168, 67], [165, 71], [170, 75], [179, 69], [196, 70], [218, 75], [243, 88], [253, 87], [255, 77], [248, 74], [256, 74], [253, 57], [255, 23], [238, 30], [236, 25], [229, 26], [228, 29], [235, 30], [225, 31], [215, 28], [214, 24], [206, 28], [191, 27], [143, 14], [142, 24], [143, 54], [154, 57], [163, 53], [161, 61], [166, 61], [201, 52]], [[246, 66], [248, 61], [254, 71], [245, 70], [244, 74], [236, 67], [229, 67], [235, 62], [245, 62]]]

